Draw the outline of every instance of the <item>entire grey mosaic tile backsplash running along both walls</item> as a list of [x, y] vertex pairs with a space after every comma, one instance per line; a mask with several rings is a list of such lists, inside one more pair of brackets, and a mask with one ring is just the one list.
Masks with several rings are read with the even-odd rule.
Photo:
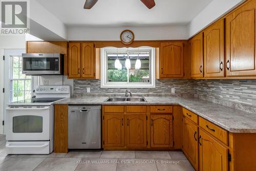
[[[91, 88], [91, 93], [86, 88]], [[130, 89], [133, 94], [192, 95], [242, 110], [256, 108], [256, 80], [156, 80], [154, 89]], [[92, 94], [124, 94], [126, 89], [101, 89], [100, 80], [74, 80], [74, 97]]]

